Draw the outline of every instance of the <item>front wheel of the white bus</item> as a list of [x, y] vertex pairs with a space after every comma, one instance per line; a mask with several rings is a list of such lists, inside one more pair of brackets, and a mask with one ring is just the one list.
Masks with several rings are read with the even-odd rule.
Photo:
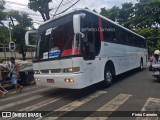
[[105, 69], [104, 71], [104, 86], [105, 87], [110, 87], [112, 86], [113, 82], [113, 72], [111, 69]]

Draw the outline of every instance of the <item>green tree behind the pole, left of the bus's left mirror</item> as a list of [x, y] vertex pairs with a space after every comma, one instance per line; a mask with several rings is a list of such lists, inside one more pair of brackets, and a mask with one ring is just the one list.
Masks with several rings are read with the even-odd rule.
[[[28, 27], [32, 26], [32, 19], [28, 17], [27, 14], [21, 14], [19, 12], [10, 12], [9, 18], [12, 21], [12, 34], [14, 42], [18, 45], [18, 51], [22, 54], [23, 60], [26, 58], [27, 47], [25, 46], [25, 33]], [[18, 22], [17, 25], [14, 24], [13, 19]]]

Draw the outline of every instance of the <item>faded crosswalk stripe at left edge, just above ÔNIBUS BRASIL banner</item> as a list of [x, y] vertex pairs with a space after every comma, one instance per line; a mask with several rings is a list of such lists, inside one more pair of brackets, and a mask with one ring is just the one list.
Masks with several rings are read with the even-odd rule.
[[41, 98], [41, 97], [43, 97], [43, 96], [44, 96], [44, 95], [36, 95], [36, 96], [29, 97], [29, 98], [24, 99], [24, 100], [18, 100], [18, 101], [15, 101], [15, 102], [13, 102], [13, 103], [8, 103], [8, 104], [6, 104], [6, 105], [0, 106], [0, 110], [4, 110], [4, 109], [7, 109], [7, 108], [10, 108], [10, 107], [19, 105], [19, 104], [23, 104], [23, 103], [26, 103], [26, 102], [29, 102], [29, 101], [32, 101], [32, 100]]

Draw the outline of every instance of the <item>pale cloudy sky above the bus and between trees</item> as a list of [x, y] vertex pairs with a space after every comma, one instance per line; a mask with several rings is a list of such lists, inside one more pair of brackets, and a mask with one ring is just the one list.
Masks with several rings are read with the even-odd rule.
[[[39, 24], [43, 22], [43, 19], [38, 12], [34, 12], [27, 8], [28, 0], [5, 0], [5, 1], [6, 1], [5, 4], [6, 11], [16, 10], [28, 13], [30, 17], [33, 19], [34, 24]], [[51, 11], [51, 15], [54, 14], [56, 10], [55, 8], [57, 8], [61, 0], [52, 0], [52, 1], [53, 2], [49, 5], [50, 8], [53, 8]], [[62, 3], [58, 12], [63, 11], [66, 8], [70, 7], [77, 0], [63, 0], [63, 1], [64, 2]], [[137, 0], [80, 0], [70, 10], [88, 7], [91, 10], [95, 9], [96, 11], [100, 12], [100, 8], [102, 7], [106, 7], [106, 9], [110, 9], [115, 5], [121, 7], [121, 5], [125, 2], [136, 3]]]

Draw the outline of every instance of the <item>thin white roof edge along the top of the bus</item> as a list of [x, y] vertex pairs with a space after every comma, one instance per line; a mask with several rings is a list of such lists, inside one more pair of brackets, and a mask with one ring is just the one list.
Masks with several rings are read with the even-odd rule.
[[125, 28], [125, 27], [123, 27], [122, 25], [119, 25], [118, 23], [116, 23], [116, 22], [114, 22], [114, 21], [112, 21], [112, 20], [110, 20], [110, 19], [108, 19], [108, 18], [106, 18], [106, 17], [104, 17], [104, 16], [96, 13], [96, 12], [90, 11], [90, 10], [88, 10], [88, 9], [77, 9], [77, 10], [74, 10], [74, 11], [71, 11], [71, 12], [64, 13], [64, 14], [62, 14], [62, 15], [55, 16], [54, 18], [51, 18], [50, 20], [45, 21], [45, 22], [44, 22], [43, 24], [41, 24], [40, 26], [43, 26], [43, 25], [45, 25], [45, 24], [47, 24], [47, 23], [49, 23], [49, 22], [51, 22], [51, 21], [53, 21], [53, 20], [59, 19], [59, 18], [61, 18], [61, 17], [63, 17], [63, 16], [66, 16], [66, 15], [68, 15], [68, 14], [71, 14], [71, 13], [74, 13], [74, 12], [78, 12], [78, 11], [86, 11], [86, 12], [92, 13], [92, 14], [94, 14], [94, 15], [96, 15], [96, 16], [99, 16], [99, 17], [105, 19], [106, 21], [108, 21], [108, 22], [110, 22], [110, 23], [113, 23], [114, 25], [116, 25], [116, 26], [118, 26], [118, 27], [120, 27], [120, 28], [122, 28], [122, 29], [124, 29], [124, 30], [126, 30], [126, 31], [128, 31], [128, 32], [130, 32], [130, 33], [132, 33], [132, 34], [135, 34], [135, 35], [137, 35], [137, 36], [145, 39], [143, 36], [141, 36], [141, 35], [133, 32], [133, 31], [131, 31], [131, 30]]

